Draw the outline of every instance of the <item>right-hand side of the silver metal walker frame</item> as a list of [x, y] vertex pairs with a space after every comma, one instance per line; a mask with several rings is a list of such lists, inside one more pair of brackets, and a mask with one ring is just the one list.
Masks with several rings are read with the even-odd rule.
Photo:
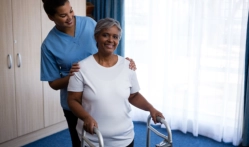
[[164, 140], [162, 142], [160, 142], [159, 144], [156, 145], [156, 147], [173, 147], [173, 141], [172, 141], [172, 133], [171, 133], [171, 129], [168, 126], [168, 124], [166, 123], [166, 121], [161, 118], [161, 117], [157, 117], [156, 118], [158, 122], [162, 123], [165, 125], [168, 136], [163, 135], [162, 133], [158, 132], [155, 128], [153, 128], [150, 125], [150, 121], [151, 121], [151, 116], [148, 116], [147, 119], [147, 141], [146, 141], [146, 147], [150, 147], [150, 130], [153, 131], [156, 135], [164, 138]]

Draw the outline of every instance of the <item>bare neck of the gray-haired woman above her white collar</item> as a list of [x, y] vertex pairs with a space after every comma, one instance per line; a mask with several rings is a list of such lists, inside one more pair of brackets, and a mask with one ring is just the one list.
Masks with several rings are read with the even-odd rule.
[[93, 57], [101, 66], [104, 67], [112, 67], [118, 62], [118, 56], [115, 54], [103, 56], [100, 53], [96, 53]]

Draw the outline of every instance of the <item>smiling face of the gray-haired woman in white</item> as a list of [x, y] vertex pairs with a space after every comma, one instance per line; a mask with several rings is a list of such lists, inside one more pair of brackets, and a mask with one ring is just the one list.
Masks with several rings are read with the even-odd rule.
[[112, 54], [119, 44], [119, 35], [120, 31], [115, 25], [111, 28], [101, 30], [95, 37], [99, 52]]

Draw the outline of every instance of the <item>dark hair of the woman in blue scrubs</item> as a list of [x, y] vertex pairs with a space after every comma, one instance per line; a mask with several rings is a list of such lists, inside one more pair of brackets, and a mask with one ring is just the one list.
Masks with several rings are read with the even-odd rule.
[[63, 6], [68, 0], [42, 0], [43, 8], [48, 15], [54, 16], [56, 8]]

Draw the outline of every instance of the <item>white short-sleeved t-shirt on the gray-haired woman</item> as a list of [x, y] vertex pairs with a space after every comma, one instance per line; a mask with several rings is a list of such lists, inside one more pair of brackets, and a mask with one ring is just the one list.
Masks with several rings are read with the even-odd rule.
[[[125, 147], [134, 139], [133, 122], [128, 98], [140, 90], [136, 72], [129, 61], [118, 56], [112, 67], [99, 65], [93, 56], [79, 62], [80, 71], [70, 77], [68, 91], [83, 91], [82, 107], [96, 120], [106, 147]], [[77, 131], [82, 134], [83, 121]], [[98, 146], [96, 135], [86, 136]], [[80, 137], [81, 138], [81, 137]]]

